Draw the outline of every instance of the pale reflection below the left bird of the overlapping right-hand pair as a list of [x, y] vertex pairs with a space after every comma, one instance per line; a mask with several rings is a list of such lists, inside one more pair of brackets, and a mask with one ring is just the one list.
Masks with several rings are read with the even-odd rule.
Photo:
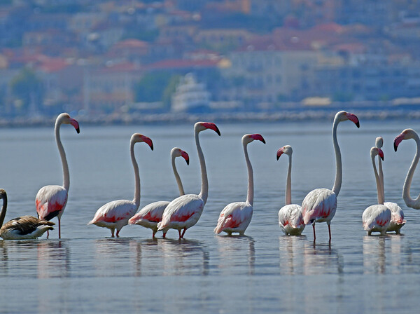
[[363, 273], [385, 273], [385, 239], [387, 236], [363, 237]]

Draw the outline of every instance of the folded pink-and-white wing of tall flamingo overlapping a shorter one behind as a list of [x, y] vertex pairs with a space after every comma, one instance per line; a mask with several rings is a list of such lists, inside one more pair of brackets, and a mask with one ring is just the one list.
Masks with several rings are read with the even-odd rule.
[[195, 194], [179, 196], [167, 205], [158, 228], [162, 230], [170, 223], [186, 222], [188, 220], [192, 220], [195, 224], [200, 218], [203, 208], [204, 200], [200, 196]]

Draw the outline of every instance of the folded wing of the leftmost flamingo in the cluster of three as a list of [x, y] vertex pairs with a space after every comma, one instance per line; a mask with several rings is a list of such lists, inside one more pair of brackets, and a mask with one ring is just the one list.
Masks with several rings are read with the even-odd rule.
[[97, 210], [89, 224], [100, 222], [114, 223], [123, 219], [129, 219], [134, 215], [137, 208], [131, 200], [113, 200]]

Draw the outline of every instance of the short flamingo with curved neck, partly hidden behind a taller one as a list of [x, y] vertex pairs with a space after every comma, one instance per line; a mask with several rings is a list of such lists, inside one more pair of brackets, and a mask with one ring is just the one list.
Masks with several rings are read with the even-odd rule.
[[[174, 147], [171, 151], [172, 170], [174, 170], [176, 183], [178, 184], [179, 195], [183, 196], [185, 193], [183, 191], [181, 178], [179, 177], [178, 171], [176, 171], [176, 157], [183, 157], [186, 160], [187, 165], [190, 163], [190, 157], [186, 151], [183, 151], [178, 147]], [[158, 231], [158, 222], [162, 221], [162, 214], [169, 203], [170, 202], [166, 200], [160, 200], [144, 206], [137, 214], [130, 218], [128, 224], [138, 224], [145, 228], [151, 228], [153, 231], [153, 238], [155, 238], [155, 234]], [[163, 238], [165, 237], [166, 232], [163, 233]]]

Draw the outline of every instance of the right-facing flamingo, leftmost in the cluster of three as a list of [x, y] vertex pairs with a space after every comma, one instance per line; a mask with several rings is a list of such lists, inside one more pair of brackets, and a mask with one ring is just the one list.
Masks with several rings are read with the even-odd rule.
[[117, 238], [120, 236], [120, 230], [123, 226], [128, 224], [128, 220], [137, 212], [140, 205], [140, 175], [139, 165], [137, 165], [136, 157], [134, 156], [134, 144], [139, 142], [146, 142], [153, 151], [153, 142], [150, 138], [134, 133], [130, 139], [130, 155], [134, 168], [134, 177], [136, 181], [136, 188], [134, 191], [133, 200], [113, 200], [106, 203], [97, 210], [96, 214], [88, 224], [95, 224], [99, 227], [109, 228], [111, 230], [111, 237], [114, 236], [114, 231], [117, 229]]

